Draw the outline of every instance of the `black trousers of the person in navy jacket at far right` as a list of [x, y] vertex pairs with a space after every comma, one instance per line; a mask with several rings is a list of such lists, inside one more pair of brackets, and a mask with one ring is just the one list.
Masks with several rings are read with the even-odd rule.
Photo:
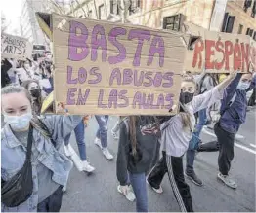
[[215, 124], [214, 132], [219, 144], [219, 171], [223, 175], [228, 175], [234, 158], [235, 133], [225, 131], [219, 123]]

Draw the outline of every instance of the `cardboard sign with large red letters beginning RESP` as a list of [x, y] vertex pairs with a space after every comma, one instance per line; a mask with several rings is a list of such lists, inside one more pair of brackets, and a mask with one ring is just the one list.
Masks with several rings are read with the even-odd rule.
[[186, 71], [229, 73], [239, 69], [248, 72], [249, 64], [256, 64], [256, 46], [246, 35], [234, 35], [204, 30], [186, 55]]

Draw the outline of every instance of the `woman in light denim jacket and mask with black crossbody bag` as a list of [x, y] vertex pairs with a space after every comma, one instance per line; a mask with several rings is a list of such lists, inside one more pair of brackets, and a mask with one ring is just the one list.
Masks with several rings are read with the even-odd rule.
[[[41, 118], [41, 123], [32, 116], [31, 96], [26, 89], [8, 86], [1, 90], [1, 97], [6, 123], [1, 131], [2, 181], [7, 183], [21, 170], [30, 147], [32, 169], [32, 194], [16, 207], [2, 203], [2, 211], [60, 211], [62, 188], [72, 168], [71, 161], [62, 154], [62, 145], [81, 117], [53, 115]], [[32, 137], [29, 137], [31, 131]], [[31, 141], [32, 146], [28, 147]], [[21, 189], [21, 192], [24, 191]]]

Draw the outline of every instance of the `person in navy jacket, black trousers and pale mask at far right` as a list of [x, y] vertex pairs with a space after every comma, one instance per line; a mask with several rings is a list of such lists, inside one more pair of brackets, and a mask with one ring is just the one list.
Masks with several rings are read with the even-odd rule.
[[229, 176], [234, 158], [235, 134], [246, 118], [246, 90], [249, 89], [252, 74], [237, 74], [235, 80], [225, 89], [220, 110], [221, 118], [214, 126], [219, 145], [218, 179], [235, 189], [235, 181]]

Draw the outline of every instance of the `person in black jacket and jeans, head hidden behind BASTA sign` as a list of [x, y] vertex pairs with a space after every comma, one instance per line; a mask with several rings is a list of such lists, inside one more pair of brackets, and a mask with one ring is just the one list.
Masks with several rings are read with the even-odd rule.
[[148, 211], [146, 173], [158, 155], [159, 136], [159, 124], [155, 117], [130, 116], [120, 124], [116, 161], [120, 185], [117, 190], [127, 197], [131, 183], [138, 212]]

